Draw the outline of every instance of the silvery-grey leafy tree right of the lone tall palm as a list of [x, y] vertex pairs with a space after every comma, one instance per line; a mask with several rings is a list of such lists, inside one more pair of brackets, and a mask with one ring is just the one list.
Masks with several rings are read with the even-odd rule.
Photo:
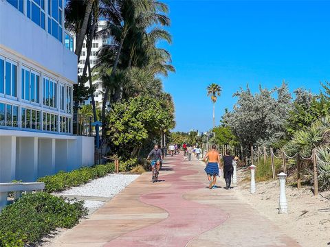
[[272, 90], [259, 88], [252, 94], [249, 87], [234, 94], [237, 103], [231, 112], [223, 116], [223, 124], [228, 126], [241, 145], [272, 145], [285, 137], [285, 121], [292, 109], [291, 94], [283, 82]]

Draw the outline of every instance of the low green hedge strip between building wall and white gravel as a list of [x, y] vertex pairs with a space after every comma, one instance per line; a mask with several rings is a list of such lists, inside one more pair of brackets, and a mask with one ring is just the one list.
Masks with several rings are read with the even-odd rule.
[[93, 167], [82, 167], [72, 172], [58, 172], [52, 176], [39, 178], [38, 182], [45, 183], [45, 191], [58, 192], [71, 187], [84, 185], [90, 180], [101, 178], [109, 173], [115, 172], [115, 165], [107, 163], [106, 165], [94, 165]]

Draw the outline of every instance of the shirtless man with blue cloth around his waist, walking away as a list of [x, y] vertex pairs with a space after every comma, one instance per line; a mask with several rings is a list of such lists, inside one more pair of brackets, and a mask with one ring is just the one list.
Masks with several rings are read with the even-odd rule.
[[208, 188], [212, 189], [215, 183], [217, 183], [217, 176], [219, 176], [220, 167], [220, 154], [217, 151], [216, 145], [212, 145], [212, 150], [206, 154], [204, 161], [207, 162], [204, 170], [208, 176], [208, 182], [210, 183]]

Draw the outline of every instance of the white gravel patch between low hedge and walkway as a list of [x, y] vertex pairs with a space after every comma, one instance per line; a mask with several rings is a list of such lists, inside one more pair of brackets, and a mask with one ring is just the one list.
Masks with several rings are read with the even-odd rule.
[[[105, 200], [109, 200], [113, 198], [116, 194], [118, 194], [122, 189], [124, 189], [127, 185], [133, 182], [140, 175], [129, 175], [129, 174], [111, 174], [108, 176], [104, 176], [103, 178], [98, 178], [93, 180], [85, 185], [80, 187], [74, 187], [72, 189], [67, 189], [66, 191], [62, 191], [58, 193], [61, 196], [83, 196], [85, 201], [85, 207], [89, 209], [89, 211], [95, 211], [96, 209], [102, 207], [105, 203]], [[101, 197], [102, 200], [97, 200], [96, 198], [88, 197]], [[80, 199], [80, 198], [79, 198]]]

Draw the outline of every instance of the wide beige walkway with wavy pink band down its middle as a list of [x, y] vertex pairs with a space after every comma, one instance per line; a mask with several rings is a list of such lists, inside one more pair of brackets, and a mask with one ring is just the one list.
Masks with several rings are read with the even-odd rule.
[[299, 246], [204, 167], [168, 156], [158, 183], [143, 174], [51, 246]]

